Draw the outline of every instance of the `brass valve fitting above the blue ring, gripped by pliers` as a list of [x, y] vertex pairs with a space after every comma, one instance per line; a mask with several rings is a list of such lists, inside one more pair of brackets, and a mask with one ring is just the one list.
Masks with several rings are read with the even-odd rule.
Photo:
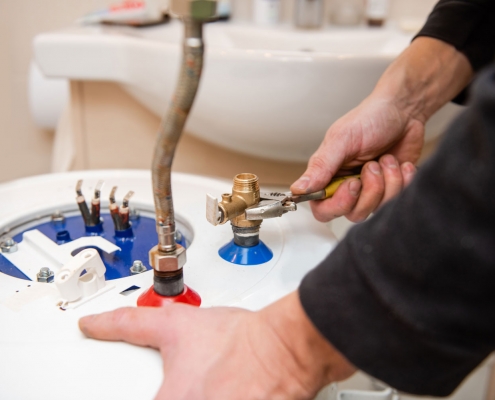
[[220, 210], [219, 224], [231, 221], [239, 228], [259, 227], [261, 220], [249, 221], [246, 219], [246, 208], [260, 202], [260, 186], [258, 177], [250, 173], [238, 174], [234, 177], [232, 194], [224, 193], [222, 201], [218, 203]]

